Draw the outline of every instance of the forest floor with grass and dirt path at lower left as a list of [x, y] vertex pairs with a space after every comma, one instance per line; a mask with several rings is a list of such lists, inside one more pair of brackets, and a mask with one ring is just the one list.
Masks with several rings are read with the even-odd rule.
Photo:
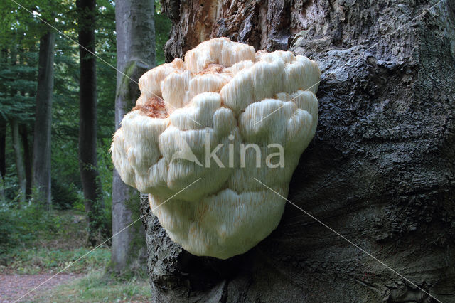
[[[144, 302], [151, 297], [146, 280], [132, 277], [118, 280], [105, 274], [110, 249], [93, 252], [83, 245], [85, 219], [72, 212], [60, 226], [61, 236], [39, 239], [9, 252], [0, 262], [0, 302], [15, 302], [38, 287], [20, 302]], [[87, 254], [87, 252], [90, 252]], [[83, 256], [83, 257], [82, 257]], [[68, 269], [63, 268], [73, 263]], [[56, 273], [58, 275], [53, 277]]]

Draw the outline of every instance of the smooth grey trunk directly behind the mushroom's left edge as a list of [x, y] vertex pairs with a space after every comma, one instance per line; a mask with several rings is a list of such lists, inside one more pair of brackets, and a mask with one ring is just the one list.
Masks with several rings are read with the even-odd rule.
[[[115, 129], [140, 95], [137, 81], [155, 64], [154, 1], [117, 0], [117, 94]], [[132, 80], [131, 80], [132, 79]], [[135, 81], [135, 82], [134, 82]], [[139, 193], [127, 186], [114, 169], [112, 180], [112, 235], [139, 218]], [[112, 269], [116, 272], [144, 266], [145, 235], [140, 222], [112, 238]], [[141, 261], [142, 260], [142, 261]], [[141, 262], [143, 264], [141, 264]]]

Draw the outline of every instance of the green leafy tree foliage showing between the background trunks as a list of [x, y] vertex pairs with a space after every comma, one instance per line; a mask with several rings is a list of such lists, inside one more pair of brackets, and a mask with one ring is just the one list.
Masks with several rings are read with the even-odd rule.
[[[23, 0], [30, 12], [11, 1], [0, 4], [0, 119], [19, 119], [33, 129], [36, 81], [38, 75], [39, 38], [52, 30], [39, 18], [63, 31], [55, 39], [55, 70], [52, 112], [52, 194], [55, 208], [80, 208], [78, 140], [79, 52], [75, 0]], [[156, 63], [164, 63], [164, 44], [171, 22], [155, 1]], [[39, 18], [38, 18], [39, 17]], [[67, 36], [73, 41], [70, 41]], [[114, 132], [114, 101], [116, 90], [116, 36], [114, 0], [97, 1], [97, 136], [99, 170], [105, 196], [105, 220], [110, 224], [112, 205], [112, 161], [109, 147]], [[105, 62], [103, 62], [105, 61]], [[109, 66], [107, 65], [107, 63]], [[33, 142], [33, 138], [29, 139]], [[33, 144], [31, 144], [33, 145]], [[13, 199], [17, 191], [14, 155], [7, 149], [6, 160], [11, 173], [5, 176], [6, 196]]]

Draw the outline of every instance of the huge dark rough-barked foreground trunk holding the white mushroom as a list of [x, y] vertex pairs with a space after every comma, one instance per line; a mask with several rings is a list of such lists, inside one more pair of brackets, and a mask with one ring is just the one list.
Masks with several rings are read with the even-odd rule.
[[289, 201], [425, 292], [291, 203], [217, 260], [172, 243], [144, 198], [154, 301], [455, 302], [455, 4], [435, 3], [163, 1], [167, 60], [215, 36], [317, 60], [318, 130]]

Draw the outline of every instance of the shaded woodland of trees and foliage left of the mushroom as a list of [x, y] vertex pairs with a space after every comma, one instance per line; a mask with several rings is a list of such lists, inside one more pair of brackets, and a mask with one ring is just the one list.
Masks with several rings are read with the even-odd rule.
[[[146, 58], [131, 75], [135, 81], [165, 60], [163, 48], [171, 23], [158, 1], [146, 5], [144, 11], [145, 4], [134, 1], [1, 2], [2, 264], [14, 262], [11, 254], [18, 248], [33, 247], [36, 241], [62, 233], [62, 216], [68, 215], [83, 218], [82, 227], [78, 225], [84, 234], [82, 246], [104, 243], [103, 247], [113, 245], [114, 251], [124, 252], [120, 259], [112, 254], [109, 268], [114, 274], [144, 271], [144, 233], [140, 237], [134, 232], [143, 230], [140, 222], [129, 230], [126, 242], [110, 240], [119, 230], [118, 222], [124, 220], [124, 228], [139, 218], [139, 193], [118, 196], [124, 195], [125, 186], [115, 177], [109, 147], [116, 125], [132, 107], [132, 100], [122, 101], [119, 96], [134, 99], [137, 94], [116, 92], [122, 83], [117, 67], [124, 70], [129, 56], [134, 57], [131, 43], [141, 38]], [[134, 28], [116, 28], [116, 18], [129, 21], [128, 9], [141, 13], [138, 22], [149, 27], [136, 33], [136, 40], [122, 44], [122, 38], [134, 36]], [[117, 53], [127, 57], [117, 60]], [[128, 87], [137, 87], [134, 80]], [[129, 215], [118, 213], [112, 222], [119, 204], [127, 207]], [[140, 264], [127, 260], [132, 242], [143, 248]]]

